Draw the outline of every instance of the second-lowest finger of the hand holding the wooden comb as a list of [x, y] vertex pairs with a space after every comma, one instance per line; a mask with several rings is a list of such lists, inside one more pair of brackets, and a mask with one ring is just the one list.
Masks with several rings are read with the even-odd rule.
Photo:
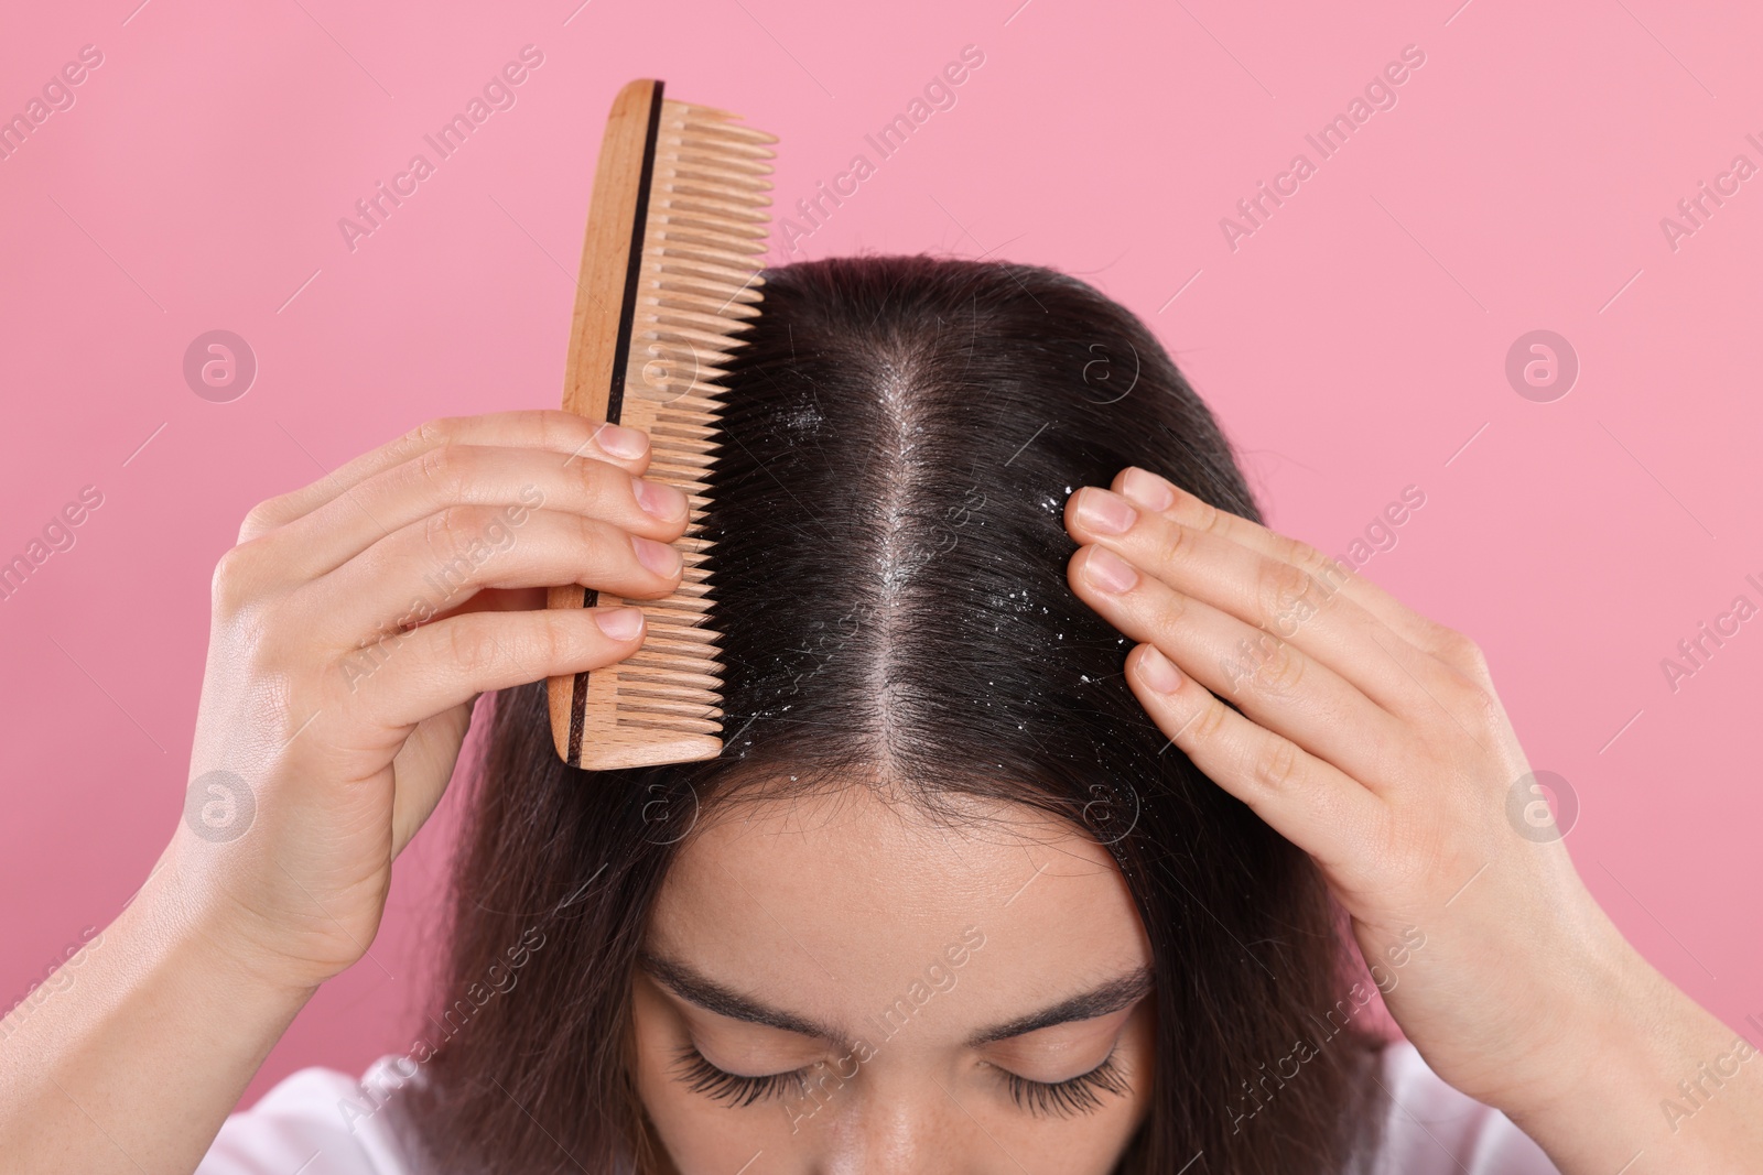
[[483, 588], [580, 583], [636, 599], [670, 595], [682, 565], [673, 546], [599, 518], [539, 509], [510, 523], [506, 509], [450, 506], [307, 585], [291, 606], [347, 647], [458, 610]]

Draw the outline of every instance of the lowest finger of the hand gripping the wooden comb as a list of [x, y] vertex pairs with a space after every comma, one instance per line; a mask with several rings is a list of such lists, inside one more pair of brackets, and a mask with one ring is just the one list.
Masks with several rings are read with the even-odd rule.
[[[635, 632], [601, 627], [617, 615], [635, 617]], [[383, 729], [402, 731], [474, 694], [603, 669], [642, 648], [645, 631], [629, 606], [465, 613], [388, 641], [351, 680], [351, 698]]]

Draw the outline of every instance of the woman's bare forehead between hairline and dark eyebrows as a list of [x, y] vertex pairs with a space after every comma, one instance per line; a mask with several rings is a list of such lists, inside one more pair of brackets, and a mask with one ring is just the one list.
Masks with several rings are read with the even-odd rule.
[[963, 958], [963, 995], [938, 1009], [950, 1032], [1149, 965], [1107, 849], [1026, 805], [957, 805], [948, 819], [855, 786], [707, 814], [663, 884], [647, 946], [837, 1024], [915, 981], [948, 985]]

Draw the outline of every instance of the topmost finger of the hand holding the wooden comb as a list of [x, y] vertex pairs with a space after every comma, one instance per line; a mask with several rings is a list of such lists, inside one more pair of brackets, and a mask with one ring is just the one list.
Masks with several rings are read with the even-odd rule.
[[319, 506], [346, 495], [374, 474], [450, 444], [543, 449], [564, 460], [591, 458], [606, 462], [629, 474], [642, 474], [649, 469], [649, 437], [640, 428], [592, 421], [559, 409], [446, 416], [423, 421], [397, 440], [363, 453], [309, 486], [261, 502], [245, 516], [238, 541], [249, 543], [277, 527], [286, 527], [293, 520], [310, 514]]

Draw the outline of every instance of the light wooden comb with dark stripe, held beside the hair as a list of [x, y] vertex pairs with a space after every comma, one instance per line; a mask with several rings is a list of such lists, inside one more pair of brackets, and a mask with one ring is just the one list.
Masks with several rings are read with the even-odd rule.
[[591, 772], [716, 757], [723, 749], [723, 662], [707, 627], [710, 543], [698, 537], [716, 460], [716, 382], [758, 314], [776, 136], [737, 115], [663, 100], [661, 83], [619, 90], [594, 167], [562, 407], [649, 433], [643, 474], [691, 500], [679, 590], [621, 599], [550, 588], [550, 608], [633, 604], [642, 648], [550, 687], [552, 736]]

